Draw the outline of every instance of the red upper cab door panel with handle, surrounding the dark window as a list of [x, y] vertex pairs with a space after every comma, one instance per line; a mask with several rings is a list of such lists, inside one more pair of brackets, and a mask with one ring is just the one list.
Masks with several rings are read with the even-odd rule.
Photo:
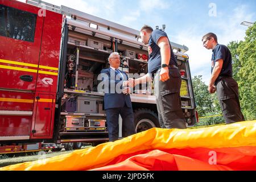
[[[15, 9], [27, 11], [33, 14], [38, 14], [39, 8], [34, 6], [29, 6], [24, 3], [16, 1], [5, 1], [0, 0], [0, 3], [4, 6], [13, 7]], [[0, 59], [7, 61], [16, 61], [18, 63], [28, 63], [33, 65], [38, 65], [40, 45], [43, 30], [43, 20], [44, 17], [37, 16], [36, 27], [35, 27], [35, 38], [34, 42], [26, 42], [23, 40], [17, 40], [13, 38], [7, 38], [5, 36], [0, 36]], [[25, 68], [30, 71], [36, 71], [38, 68], [30, 67], [27, 65], [17, 65], [10, 63], [0, 63], [4, 66], [13, 67], [14, 69], [3, 69], [0, 68], [0, 75], [2, 80], [0, 82], [0, 88], [7, 89], [19, 89], [19, 90], [35, 90], [36, 88], [36, 72], [19, 71], [15, 68]], [[33, 77], [31, 82], [26, 82], [20, 80], [20, 76], [30, 75]]]

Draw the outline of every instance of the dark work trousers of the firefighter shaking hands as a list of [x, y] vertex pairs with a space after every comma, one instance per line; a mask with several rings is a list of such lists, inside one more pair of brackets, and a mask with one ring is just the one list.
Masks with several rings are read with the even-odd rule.
[[167, 129], [186, 129], [180, 100], [180, 72], [177, 68], [169, 68], [170, 79], [165, 82], [159, 81], [159, 74], [160, 71], [155, 75], [154, 85], [160, 126]]

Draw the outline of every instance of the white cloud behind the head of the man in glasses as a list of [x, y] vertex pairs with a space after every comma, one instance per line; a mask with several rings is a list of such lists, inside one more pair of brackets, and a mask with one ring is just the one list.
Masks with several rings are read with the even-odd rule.
[[241, 26], [243, 20], [253, 21], [254, 14], [247, 14], [247, 6], [243, 5], [233, 10], [233, 15], [224, 17], [223, 13], [218, 13], [216, 18], [209, 18], [205, 25], [188, 28], [179, 32], [175, 36], [177, 43], [185, 44], [189, 48], [187, 54], [190, 58], [192, 76], [203, 75], [205, 84], [210, 80], [210, 59], [212, 51], [203, 47], [201, 38], [207, 32], [215, 32], [220, 44], [228, 44], [233, 40], [244, 40], [246, 27]]

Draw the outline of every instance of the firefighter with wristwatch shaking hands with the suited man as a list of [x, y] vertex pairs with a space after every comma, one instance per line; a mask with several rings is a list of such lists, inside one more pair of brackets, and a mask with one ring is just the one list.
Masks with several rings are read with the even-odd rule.
[[135, 80], [135, 84], [150, 81], [154, 77], [156, 106], [160, 126], [167, 129], [185, 129], [181, 109], [181, 76], [166, 32], [153, 30], [150, 26], [141, 29], [141, 38], [148, 44], [148, 74]]

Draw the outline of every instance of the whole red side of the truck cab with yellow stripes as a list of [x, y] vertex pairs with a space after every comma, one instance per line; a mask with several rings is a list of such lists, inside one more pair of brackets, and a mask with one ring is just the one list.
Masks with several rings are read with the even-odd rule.
[[[0, 0], [0, 4], [35, 15], [39, 12], [38, 7], [22, 2]], [[47, 10], [45, 15], [36, 16], [34, 42], [0, 36], [4, 80], [0, 82], [0, 110], [32, 111], [32, 116], [1, 115], [0, 137], [52, 138], [63, 17]], [[32, 76], [32, 81], [21, 80], [24, 75]]]

